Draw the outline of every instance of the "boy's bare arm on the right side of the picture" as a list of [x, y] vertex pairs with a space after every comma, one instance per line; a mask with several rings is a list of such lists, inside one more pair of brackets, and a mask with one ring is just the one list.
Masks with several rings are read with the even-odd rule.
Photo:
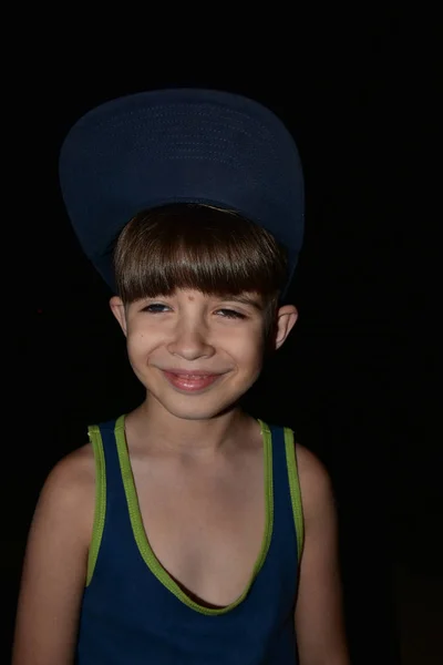
[[305, 518], [295, 616], [300, 665], [350, 665], [330, 479], [320, 461], [301, 446], [297, 446], [297, 463]]

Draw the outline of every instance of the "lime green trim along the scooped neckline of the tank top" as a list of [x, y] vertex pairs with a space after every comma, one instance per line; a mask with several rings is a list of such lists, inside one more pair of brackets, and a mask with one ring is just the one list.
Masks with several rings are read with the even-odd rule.
[[185, 605], [199, 612], [200, 614], [206, 614], [209, 616], [216, 616], [220, 614], [227, 614], [235, 607], [237, 607], [247, 596], [249, 590], [253, 585], [254, 580], [258, 575], [262, 564], [265, 563], [271, 536], [272, 536], [272, 526], [274, 526], [274, 485], [272, 485], [272, 441], [271, 433], [266, 423], [259, 420], [261, 436], [264, 441], [264, 469], [265, 469], [265, 533], [261, 542], [261, 549], [258, 555], [258, 559], [255, 563], [251, 577], [241, 593], [241, 595], [234, 601], [230, 605], [220, 608], [210, 608], [205, 607], [204, 605], [199, 605], [192, 598], [189, 598], [186, 593], [178, 586], [178, 584], [171, 577], [171, 575], [165, 571], [165, 569], [159, 563], [158, 559], [155, 556], [151, 544], [147, 540], [144, 526], [142, 514], [140, 511], [138, 499], [135, 490], [134, 477], [132, 473], [131, 461], [127, 450], [127, 443], [124, 431], [124, 416], [121, 416], [115, 423], [115, 440], [117, 444], [117, 453], [120, 460], [120, 468], [122, 471], [122, 479], [126, 494], [127, 508], [132, 524], [132, 530], [134, 533], [135, 542], [138, 546], [138, 551], [150, 567], [151, 572], [157, 577], [157, 580], [173, 593], [179, 601], [182, 601]]

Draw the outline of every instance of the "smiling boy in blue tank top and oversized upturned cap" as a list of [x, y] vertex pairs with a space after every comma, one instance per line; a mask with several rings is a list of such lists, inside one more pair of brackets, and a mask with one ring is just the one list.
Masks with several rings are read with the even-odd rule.
[[297, 320], [292, 137], [239, 95], [140, 93], [72, 127], [60, 177], [146, 398], [45, 482], [14, 665], [348, 665], [327, 473], [239, 406]]

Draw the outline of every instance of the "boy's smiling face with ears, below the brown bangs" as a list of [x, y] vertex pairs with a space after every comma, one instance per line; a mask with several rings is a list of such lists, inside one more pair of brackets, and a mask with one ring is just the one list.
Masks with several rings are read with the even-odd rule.
[[[209, 419], [233, 406], [257, 380], [265, 348], [264, 303], [257, 294], [219, 297], [177, 289], [111, 308], [127, 339], [132, 368], [150, 399], [187, 420]], [[297, 320], [278, 311], [275, 348]]]

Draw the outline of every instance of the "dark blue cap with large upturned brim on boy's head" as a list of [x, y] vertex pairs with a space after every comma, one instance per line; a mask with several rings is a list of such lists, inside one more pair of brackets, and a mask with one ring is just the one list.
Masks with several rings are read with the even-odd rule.
[[203, 89], [155, 90], [87, 112], [60, 153], [66, 211], [86, 256], [115, 289], [112, 245], [138, 212], [177, 202], [235, 209], [289, 258], [303, 236], [303, 176], [293, 137], [266, 106]]

